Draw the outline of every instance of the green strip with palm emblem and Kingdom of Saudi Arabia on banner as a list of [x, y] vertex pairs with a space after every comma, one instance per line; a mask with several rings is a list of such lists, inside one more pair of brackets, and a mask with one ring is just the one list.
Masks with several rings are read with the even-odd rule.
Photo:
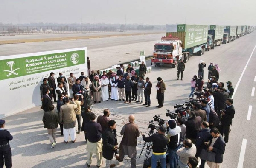
[[0, 60], [0, 80], [85, 64], [85, 50]]

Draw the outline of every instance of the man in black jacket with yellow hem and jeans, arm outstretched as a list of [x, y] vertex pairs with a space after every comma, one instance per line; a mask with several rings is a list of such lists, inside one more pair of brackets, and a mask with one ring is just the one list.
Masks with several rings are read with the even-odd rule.
[[151, 168], [157, 167], [158, 160], [161, 162], [161, 167], [166, 168], [167, 144], [170, 141], [169, 137], [165, 136], [166, 131], [167, 129], [164, 126], [160, 126], [158, 127], [158, 134], [150, 137], [146, 137], [143, 132], [140, 132], [145, 142], [153, 142]]

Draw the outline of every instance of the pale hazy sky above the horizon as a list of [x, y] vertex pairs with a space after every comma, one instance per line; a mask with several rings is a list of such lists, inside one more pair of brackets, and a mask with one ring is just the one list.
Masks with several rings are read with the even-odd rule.
[[149, 25], [256, 25], [256, 0], [0, 0], [3, 23], [125, 20]]

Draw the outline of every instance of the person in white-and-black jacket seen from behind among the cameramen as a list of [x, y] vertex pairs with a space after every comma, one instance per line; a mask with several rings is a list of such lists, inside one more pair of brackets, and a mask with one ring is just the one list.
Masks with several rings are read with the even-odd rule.
[[180, 132], [181, 129], [177, 126], [176, 121], [174, 119], [168, 120], [166, 123], [168, 127], [167, 136], [170, 138], [169, 148], [168, 148], [168, 159], [170, 168], [177, 167], [177, 159], [176, 159], [176, 152], [179, 149], [180, 144]]

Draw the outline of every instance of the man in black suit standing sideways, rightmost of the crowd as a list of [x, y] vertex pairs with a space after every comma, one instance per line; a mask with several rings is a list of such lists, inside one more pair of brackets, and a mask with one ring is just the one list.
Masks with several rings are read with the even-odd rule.
[[229, 129], [230, 125], [232, 124], [232, 119], [234, 118], [235, 115], [235, 108], [233, 106], [233, 99], [228, 98], [226, 100], [227, 107], [226, 110], [221, 111], [222, 118], [221, 118], [221, 135], [224, 136], [224, 141], [225, 143], [228, 142], [228, 134], [229, 134]]

